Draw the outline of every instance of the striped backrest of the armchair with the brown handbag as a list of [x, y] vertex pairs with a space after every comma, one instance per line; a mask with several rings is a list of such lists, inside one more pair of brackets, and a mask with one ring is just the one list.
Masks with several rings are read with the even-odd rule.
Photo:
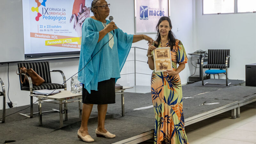
[[[22, 62], [18, 63], [18, 68], [25, 67], [27, 69], [32, 68], [39, 76], [44, 79], [44, 83], [52, 83], [51, 75], [50, 75], [50, 66], [49, 61], [43, 62]], [[24, 76], [22, 76], [22, 80]], [[20, 87], [28, 86], [28, 83], [21, 84]]]

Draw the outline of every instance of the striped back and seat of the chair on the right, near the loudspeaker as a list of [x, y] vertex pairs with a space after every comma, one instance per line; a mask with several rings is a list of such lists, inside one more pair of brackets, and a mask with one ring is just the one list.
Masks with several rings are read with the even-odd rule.
[[[226, 57], [230, 55], [230, 50], [208, 50], [208, 65], [209, 64], [217, 64], [216, 65], [209, 65], [204, 68], [212, 68], [210, 66], [213, 66], [215, 68], [225, 68], [222, 67], [221, 64], [225, 65]], [[228, 60], [228, 68], [229, 68], [229, 60]]]

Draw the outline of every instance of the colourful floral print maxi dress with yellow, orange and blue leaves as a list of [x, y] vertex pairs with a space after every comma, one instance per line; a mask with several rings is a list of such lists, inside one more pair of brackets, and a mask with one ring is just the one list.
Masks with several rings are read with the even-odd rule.
[[[159, 44], [162, 47], [162, 44]], [[169, 42], [165, 47], [170, 47]], [[153, 53], [153, 52], [152, 52]], [[177, 64], [187, 63], [188, 58], [182, 43], [176, 40], [171, 50], [172, 70]], [[151, 94], [155, 112], [154, 143], [188, 144], [184, 129], [182, 89], [180, 76], [165, 72], [152, 72]]]

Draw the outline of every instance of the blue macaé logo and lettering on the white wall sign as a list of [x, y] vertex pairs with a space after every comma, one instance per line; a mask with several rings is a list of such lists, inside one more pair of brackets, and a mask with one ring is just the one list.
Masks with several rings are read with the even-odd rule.
[[140, 6], [140, 20], [148, 20], [150, 18], [162, 17], [164, 16], [164, 9], [151, 8], [148, 6]]

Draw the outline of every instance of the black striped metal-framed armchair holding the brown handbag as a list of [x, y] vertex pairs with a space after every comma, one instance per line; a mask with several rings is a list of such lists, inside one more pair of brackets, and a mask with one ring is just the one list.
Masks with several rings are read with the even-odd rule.
[[[54, 90], [57, 87], [59, 87], [58, 89], [67, 90], [67, 84], [65, 82], [66, 77], [65, 77], [64, 73], [61, 70], [50, 71], [49, 61], [18, 63], [18, 68], [21, 68], [21, 67], [25, 67], [27, 69], [32, 68], [39, 76], [41, 76], [45, 80], [45, 82], [43, 84], [36, 86], [36, 85], [32, 84], [30, 76], [27, 75], [29, 82], [25, 82], [23, 84], [20, 82], [20, 90], [29, 91], [30, 95], [33, 94], [34, 90], [44, 90], [44, 89]], [[50, 72], [60, 72], [63, 77], [63, 83], [65, 82], [64, 85], [52, 83]], [[22, 74], [20, 76], [21, 76], [22, 80], [25, 78], [24, 74]], [[19, 78], [20, 78], [20, 76], [19, 76]], [[33, 117], [33, 97], [32, 96], [30, 97], [30, 105], [31, 105], [30, 116], [28, 116], [29, 114], [21, 114], [21, 115], [27, 116], [30, 118]], [[58, 110], [52, 109], [52, 111], [58, 111]], [[51, 111], [47, 111], [47, 112], [51, 112]], [[36, 113], [34, 113], [34, 114], [36, 114]]]

